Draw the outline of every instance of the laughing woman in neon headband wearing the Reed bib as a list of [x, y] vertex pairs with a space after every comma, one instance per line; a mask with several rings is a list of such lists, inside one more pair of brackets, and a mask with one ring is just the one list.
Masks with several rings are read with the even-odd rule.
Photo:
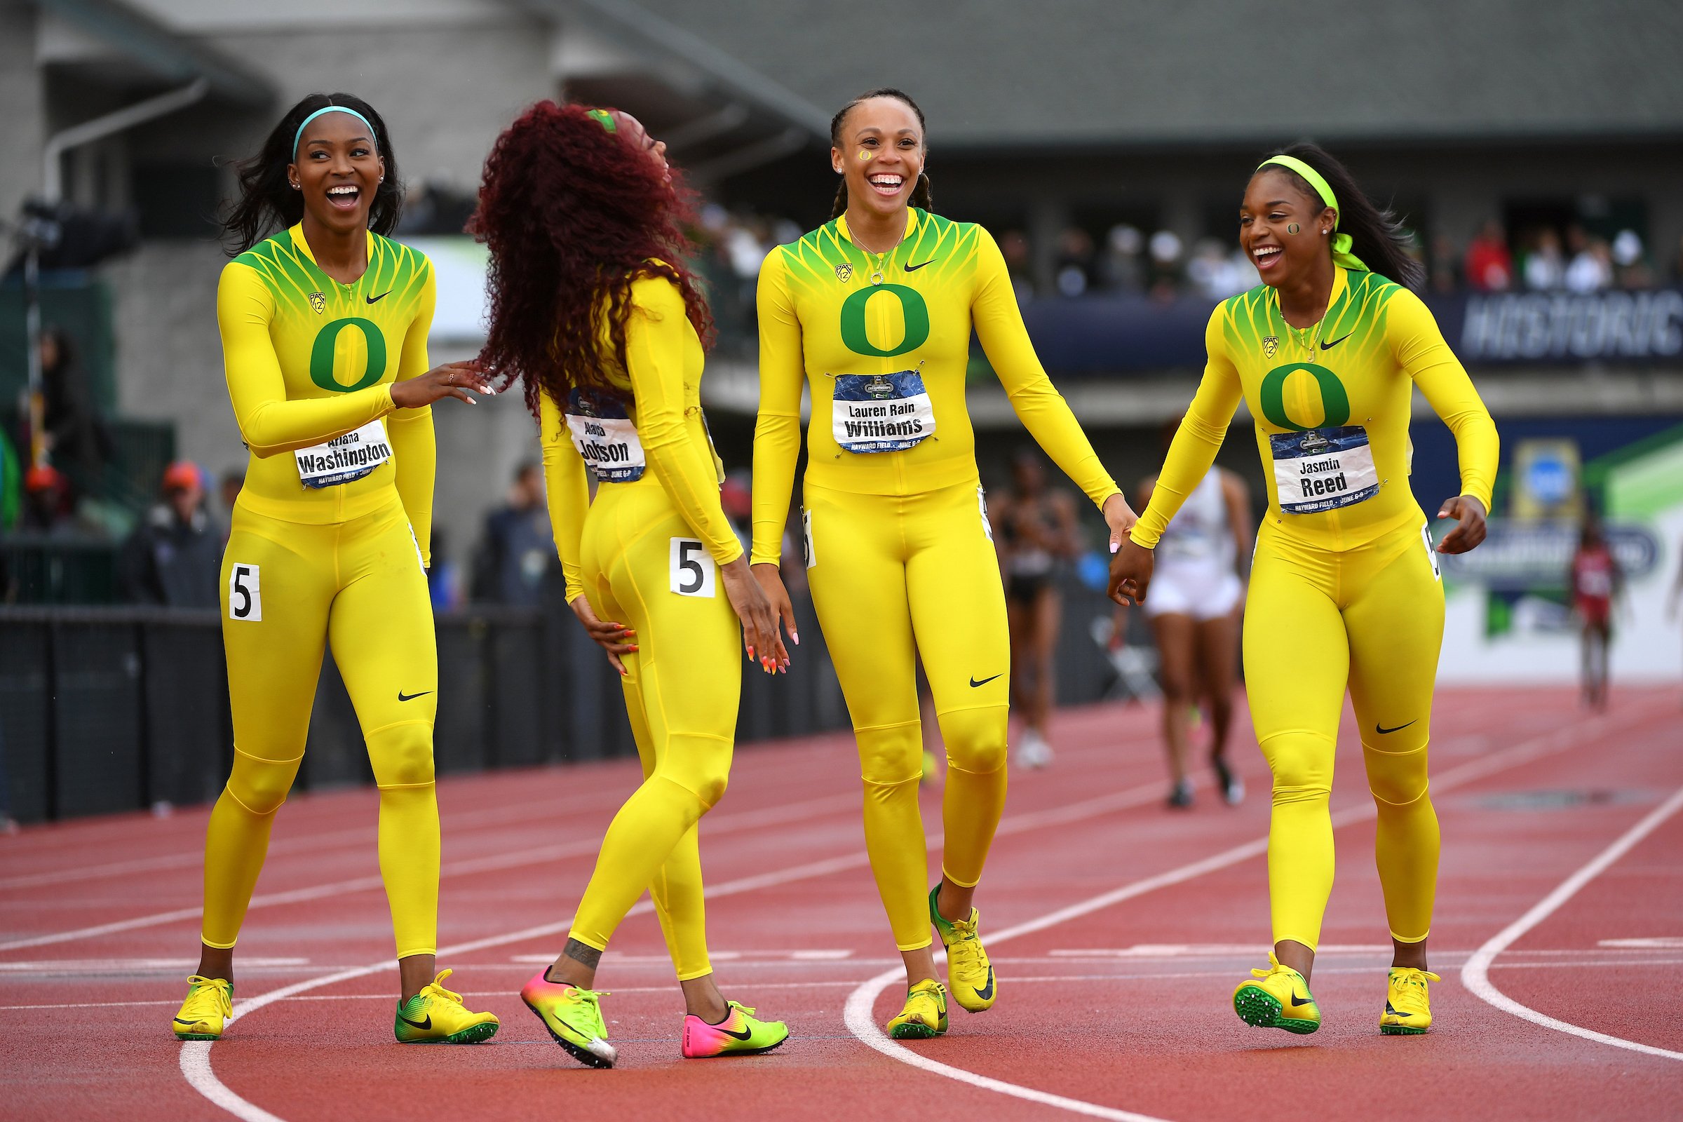
[[1272, 479], [1245, 602], [1244, 659], [1257, 744], [1274, 772], [1271, 969], [1234, 992], [1249, 1024], [1313, 1033], [1309, 971], [1333, 886], [1328, 796], [1348, 686], [1378, 807], [1375, 858], [1394, 959], [1380, 1031], [1432, 1023], [1426, 935], [1437, 886], [1437, 814], [1426, 784], [1444, 592], [1409, 491], [1409, 402], [1419, 389], [1456, 436], [1461, 493], [1437, 545], [1484, 540], [1496, 426], [1410, 291], [1405, 234], [1314, 145], [1250, 177], [1239, 241], [1262, 284], [1224, 301], [1208, 365], [1151, 503], [1111, 562], [1111, 595], [1146, 597], [1151, 550], [1222, 444], [1239, 397]]

